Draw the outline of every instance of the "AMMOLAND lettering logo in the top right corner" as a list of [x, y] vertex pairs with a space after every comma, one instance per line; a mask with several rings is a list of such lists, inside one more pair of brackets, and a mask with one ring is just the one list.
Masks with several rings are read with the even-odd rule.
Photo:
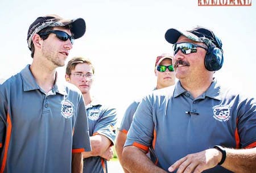
[[251, 6], [251, 0], [198, 0], [198, 6]]

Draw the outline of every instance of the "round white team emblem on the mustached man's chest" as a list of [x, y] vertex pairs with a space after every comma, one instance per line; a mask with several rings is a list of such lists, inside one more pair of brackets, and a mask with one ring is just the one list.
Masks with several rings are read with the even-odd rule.
[[213, 107], [213, 117], [218, 121], [228, 121], [230, 119], [229, 106], [217, 105]]

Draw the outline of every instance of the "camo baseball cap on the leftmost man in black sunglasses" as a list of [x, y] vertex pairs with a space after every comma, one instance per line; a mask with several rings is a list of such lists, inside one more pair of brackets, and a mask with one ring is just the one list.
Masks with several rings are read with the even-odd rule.
[[32, 36], [38, 33], [46, 27], [64, 27], [71, 25], [71, 32], [73, 33], [74, 39], [79, 39], [85, 33], [85, 21], [82, 18], [77, 19], [63, 19], [58, 15], [46, 15], [37, 18], [28, 29], [27, 32], [27, 44], [28, 48], [31, 49]]

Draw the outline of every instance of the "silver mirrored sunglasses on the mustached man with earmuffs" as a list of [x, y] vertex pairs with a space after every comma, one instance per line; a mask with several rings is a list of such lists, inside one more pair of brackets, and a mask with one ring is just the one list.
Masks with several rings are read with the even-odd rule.
[[193, 43], [175, 43], [172, 46], [172, 49], [174, 49], [174, 54], [176, 54], [179, 50], [181, 50], [182, 53], [184, 54], [189, 54], [189, 53], [196, 53], [197, 49], [196, 48], [203, 48], [207, 50], [207, 48], [202, 47], [201, 45], [198, 44], [193, 44]]

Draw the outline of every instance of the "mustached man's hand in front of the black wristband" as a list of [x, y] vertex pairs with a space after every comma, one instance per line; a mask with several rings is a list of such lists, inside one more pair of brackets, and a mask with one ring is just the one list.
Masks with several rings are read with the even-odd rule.
[[199, 153], [188, 154], [172, 164], [168, 171], [176, 173], [199, 173], [215, 167], [220, 162], [222, 154], [217, 149], [208, 149]]

